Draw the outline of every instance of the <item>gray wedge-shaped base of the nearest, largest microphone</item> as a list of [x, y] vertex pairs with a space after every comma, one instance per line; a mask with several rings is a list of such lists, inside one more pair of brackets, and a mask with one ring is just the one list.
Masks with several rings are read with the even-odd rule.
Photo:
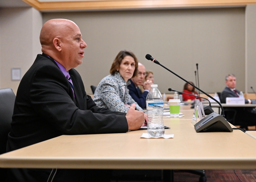
[[196, 132], [233, 132], [227, 120], [213, 112], [194, 125]]

